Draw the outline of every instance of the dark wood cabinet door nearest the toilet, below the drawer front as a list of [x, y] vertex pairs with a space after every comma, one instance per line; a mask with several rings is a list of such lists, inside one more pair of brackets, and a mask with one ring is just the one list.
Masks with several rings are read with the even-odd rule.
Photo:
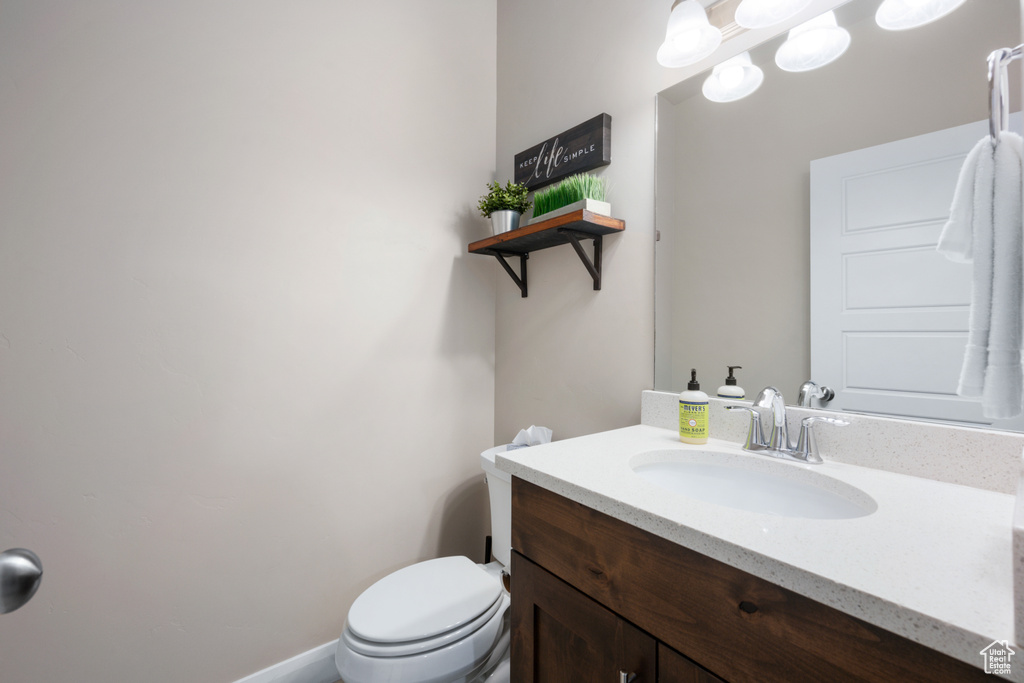
[[512, 553], [513, 681], [655, 683], [655, 657], [649, 635]]

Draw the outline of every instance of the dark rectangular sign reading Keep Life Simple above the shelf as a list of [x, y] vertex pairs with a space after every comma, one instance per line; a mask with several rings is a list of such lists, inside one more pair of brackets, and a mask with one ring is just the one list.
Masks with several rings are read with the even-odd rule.
[[515, 156], [515, 181], [537, 189], [611, 163], [611, 117], [601, 114]]

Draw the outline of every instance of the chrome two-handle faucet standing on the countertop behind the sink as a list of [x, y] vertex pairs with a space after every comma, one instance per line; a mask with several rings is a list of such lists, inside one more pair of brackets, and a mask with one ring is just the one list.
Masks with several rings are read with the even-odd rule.
[[[801, 392], [803, 393], [803, 392]], [[746, 432], [744, 451], [763, 453], [773, 458], [796, 460], [801, 463], [818, 465], [822, 463], [818, 454], [817, 441], [814, 438], [814, 425], [825, 422], [837, 427], [850, 424], [846, 420], [812, 416], [804, 418], [800, 424], [800, 436], [797, 444], [790, 441], [790, 430], [785, 415], [785, 400], [782, 393], [775, 387], [765, 387], [754, 399], [754, 405], [726, 405], [727, 411], [746, 411], [751, 414], [751, 424]], [[771, 420], [771, 431], [765, 438], [764, 420]]]

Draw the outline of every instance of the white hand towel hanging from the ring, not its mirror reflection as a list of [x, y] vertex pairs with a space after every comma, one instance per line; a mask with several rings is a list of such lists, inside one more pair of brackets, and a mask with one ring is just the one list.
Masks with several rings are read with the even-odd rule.
[[[1021, 145], [1015, 133], [1002, 133], [995, 146], [992, 188], [992, 299], [988, 364], [982, 409], [986, 418], [1014, 418], [1024, 407], [1021, 376], [1024, 293], [1024, 225], [1021, 224]], [[976, 190], [977, 191], [977, 188]]]

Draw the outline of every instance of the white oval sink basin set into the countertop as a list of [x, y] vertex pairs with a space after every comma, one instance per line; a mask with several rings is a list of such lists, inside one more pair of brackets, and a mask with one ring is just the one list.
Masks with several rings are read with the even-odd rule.
[[679, 496], [748, 512], [851, 519], [879, 508], [855, 486], [768, 456], [654, 451], [634, 457], [630, 467], [637, 476]]

